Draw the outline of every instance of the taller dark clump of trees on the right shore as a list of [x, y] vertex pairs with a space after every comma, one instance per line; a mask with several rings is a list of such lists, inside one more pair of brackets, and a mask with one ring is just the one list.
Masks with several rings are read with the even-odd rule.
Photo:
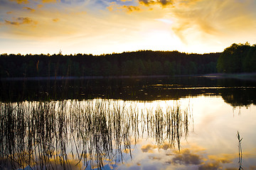
[[221, 53], [217, 64], [220, 73], [256, 72], [256, 45], [233, 44]]

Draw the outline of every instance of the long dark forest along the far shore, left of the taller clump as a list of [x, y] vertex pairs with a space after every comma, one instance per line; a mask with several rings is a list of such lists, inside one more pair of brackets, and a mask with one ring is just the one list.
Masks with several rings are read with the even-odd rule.
[[1, 77], [149, 76], [216, 73], [220, 53], [137, 51], [111, 55], [0, 56]]

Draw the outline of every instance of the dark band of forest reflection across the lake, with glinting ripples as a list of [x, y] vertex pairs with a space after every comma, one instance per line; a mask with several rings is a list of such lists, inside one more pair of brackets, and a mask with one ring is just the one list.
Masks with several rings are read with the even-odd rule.
[[231, 106], [256, 104], [256, 81], [204, 77], [1, 81], [0, 101], [112, 98], [124, 101], [222, 96]]

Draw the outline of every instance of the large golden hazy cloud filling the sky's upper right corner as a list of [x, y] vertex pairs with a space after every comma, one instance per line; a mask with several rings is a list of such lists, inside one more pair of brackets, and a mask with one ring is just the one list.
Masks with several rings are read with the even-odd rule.
[[196, 33], [197, 38], [208, 35], [223, 37], [232, 31], [252, 30], [255, 28], [255, 18], [250, 6], [253, 6], [252, 1], [246, 1], [246, 3], [240, 3], [238, 0], [177, 2], [176, 8], [172, 10], [172, 15], [176, 19], [172, 30], [184, 43], [187, 43], [190, 36]]

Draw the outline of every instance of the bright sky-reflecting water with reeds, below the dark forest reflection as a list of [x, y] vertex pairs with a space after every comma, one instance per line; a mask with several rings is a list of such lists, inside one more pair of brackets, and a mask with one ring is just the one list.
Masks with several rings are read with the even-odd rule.
[[[176, 111], [182, 114], [172, 115]], [[243, 167], [253, 169], [255, 111], [240, 108], [234, 115], [220, 97], [1, 103], [1, 166], [24, 158], [13, 167], [28, 167], [30, 157], [30, 166], [38, 167], [36, 154], [41, 159], [52, 154], [42, 162], [53, 169], [238, 169], [239, 130], [245, 139]]]

